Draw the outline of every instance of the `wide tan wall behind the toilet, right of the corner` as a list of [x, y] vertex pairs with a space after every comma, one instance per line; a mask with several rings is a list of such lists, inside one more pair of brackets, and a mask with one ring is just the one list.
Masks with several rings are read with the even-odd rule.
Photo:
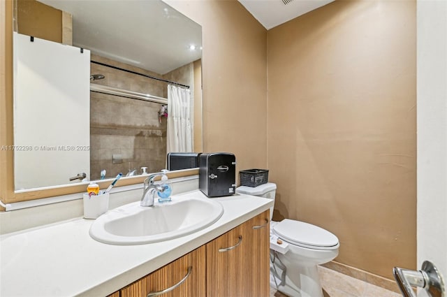
[[335, 1], [268, 31], [275, 217], [322, 226], [336, 261], [416, 268], [416, 1]]

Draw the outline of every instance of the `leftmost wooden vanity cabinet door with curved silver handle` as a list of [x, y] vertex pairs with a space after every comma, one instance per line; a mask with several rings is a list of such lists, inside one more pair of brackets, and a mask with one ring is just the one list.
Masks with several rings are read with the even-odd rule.
[[[206, 296], [205, 264], [205, 246], [202, 246], [124, 287], [121, 297], [146, 297], [148, 294], [163, 297]], [[161, 293], [163, 290], [166, 293]]]

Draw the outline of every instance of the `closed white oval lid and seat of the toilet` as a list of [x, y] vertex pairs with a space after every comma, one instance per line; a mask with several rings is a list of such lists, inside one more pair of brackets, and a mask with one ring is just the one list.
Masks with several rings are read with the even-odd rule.
[[274, 225], [273, 232], [293, 245], [310, 249], [335, 249], [339, 246], [337, 236], [329, 231], [293, 219], [284, 219]]

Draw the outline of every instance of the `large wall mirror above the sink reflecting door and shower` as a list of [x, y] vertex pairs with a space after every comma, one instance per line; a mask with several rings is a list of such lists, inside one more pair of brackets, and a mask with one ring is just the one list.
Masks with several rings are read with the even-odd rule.
[[[65, 43], [68, 44], [62, 45], [65, 52], [72, 43], [77, 55], [79, 52], [91, 55], [87, 77], [81, 75], [82, 78], [71, 80], [50, 71], [42, 81], [56, 89], [57, 101], [48, 103], [50, 95], [45, 92], [39, 100], [46, 104], [36, 103], [36, 92], [27, 95], [17, 87], [22, 83], [25, 89], [31, 89], [29, 82], [43, 83], [40, 77], [16, 76], [18, 63], [14, 59], [15, 78], [20, 79], [14, 87], [16, 191], [81, 182], [82, 178], [69, 179], [82, 177], [83, 173], [89, 180], [98, 180], [115, 178], [120, 172], [138, 176], [160, 171], [166, 164], [167, 117], [162, 106], [166, 107], [163, 99], [168, 97], [168, 82], [176, 87], [181, 85], [180, 89], [189, 87], [192, 151], [201, 151], [202, 29], [199, 24], [163, 1], [17, 0], [14, 5], [15, 33], [25, 36], [26, 40], [22, 41], [25, 45]], [[30, 13], [37, 10], [36, 6], [43, 7], [43, 15]], [[45, 15], [54, 13], [53, 9], [57, 15], [55, 20]], [[47, 29], [36, 24], [39, 19], [52, 20], [55, 24], [49, 27], [61, 28], [60, 41], [59, 37], [52, 40], [51, 34], [48, 37]], [[17, 41], [20, 35], [14, 37], [15, 54], [21, 49]], [[31, 41], [29, 36], [34, 39]], [[37, 51], [32, 48], [29, 52]], [[21, 55], [27, 57], [24, 61], [45, 59], [73, 68], [77, 64], [72, 61], [71, 65], [71, 58], [57, 60], [55, 52], [47, 48], [43, 52], [47, 55], [44, 58], [28, 57], [27, 51]], [[38, 63], [37, 67], [49, 71], [48, 63]], [[71, 70], [68, 68], [68, 74], [74, 72]], [[73, 87], [78, 79], [90, 89], [85, 108], [71, 108], [68, 101], [73, 99], [64, 102], [59, 96], [62, 82], [69, 80], [68, 85]], [[19, 94], [26, 98], [22, 99]], [[61, 124], [68, 122], [68, 117], [74, 122]], [[50, 128], [54, 126], [59, 131], [51, 136]], [[36, 151], [39, 152], [36, 154]], [[71, 163], [60, 160], [71, 160]]]

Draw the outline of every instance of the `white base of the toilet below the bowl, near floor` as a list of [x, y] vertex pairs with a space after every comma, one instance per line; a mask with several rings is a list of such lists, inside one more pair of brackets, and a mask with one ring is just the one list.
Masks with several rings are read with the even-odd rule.
[[290, 297], [323, 297], [316, 265], [296, 266], [287, 262], [281, 256], [270, 262], [271, 287]]

